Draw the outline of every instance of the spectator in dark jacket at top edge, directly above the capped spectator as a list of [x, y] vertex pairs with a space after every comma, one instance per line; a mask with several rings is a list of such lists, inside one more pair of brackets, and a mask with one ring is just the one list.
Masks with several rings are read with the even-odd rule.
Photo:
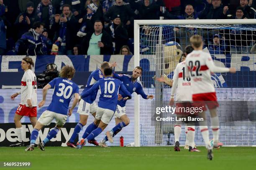
[[133, 22], [133, 10], [128, 5], [123, 5], [123, 0], [115, 0], [115, 5], [110, 7], [104, 15], [106, 23], [111, 22], [111, 18], [120, 15], [121, 22], [130, 25]]

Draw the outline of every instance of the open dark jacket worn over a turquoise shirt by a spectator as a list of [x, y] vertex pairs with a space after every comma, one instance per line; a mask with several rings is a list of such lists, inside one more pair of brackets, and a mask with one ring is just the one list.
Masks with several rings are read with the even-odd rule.
[[[87, 33], [87, 35], [84, 36], [84, 39], [82, 40], [82, 52], [83, 55], [87, 55], [87, 50], [89, 48], [90, 39], [92, 37], [93, 32]], [[100, 47], [100, 55], [111, 55], [112, 53], [112, 38], [111, 35], [108, 34], [105, 30], [102, 30], [102, 37], [101, 42], [104, 44], [104, 47]]]

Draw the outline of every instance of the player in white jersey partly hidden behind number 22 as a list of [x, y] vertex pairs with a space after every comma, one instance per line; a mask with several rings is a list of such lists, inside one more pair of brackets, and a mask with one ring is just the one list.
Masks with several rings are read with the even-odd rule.
[[[191, 49], [187, 54], [193, 51], [193, 48], [191, 45], [188, 45], [186, 48]], [[185, 50], [186, 50], [185, 48]], [[192, 94], [191, 94], [191, 87], [190, 87], [190, 78], [185, 77], [185, 62], [186, 55], [182, 56], [182, 62], [177, 64], [177, 67], [174, 70], [174, 75], [173, 75], [173, 84], [172, 84], [172, 92], [171, 92], [171, 99], [170, 99], [170, 105], [174, 104], [174, 94], [177, 90], [177, 95], [176, 95], [176, 107], [192, 107], [191, 101], [192, 101]], [[182, 117], [182, 116], [188, 116], [191, 115], [189, 112], [179, 112], [176, 111], [177, 117]], [[189, 152], [200, 152], [200, 150], [197, 150], [195, 148], [195, 125], [186, 125], [186, 144], [189, 145]], [[174, 125], [174, 139], [175, 139], [175, 144], [174, 144], [174, 151], [180, 151], [179, 148], [179, 137], [181, 133], [181, 123], [177, 122]], [[188, 142], [188, 143], [187, 143]]]

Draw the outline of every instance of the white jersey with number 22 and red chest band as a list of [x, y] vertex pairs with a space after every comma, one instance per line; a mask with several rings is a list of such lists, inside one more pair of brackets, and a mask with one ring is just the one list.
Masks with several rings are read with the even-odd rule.
[[194, 50], [186, 57], [185, 75], [191, 78], [192, 94], [215, 92], [211, 72], [229, 72], [229, 68], [217, 67], [209, 53]]

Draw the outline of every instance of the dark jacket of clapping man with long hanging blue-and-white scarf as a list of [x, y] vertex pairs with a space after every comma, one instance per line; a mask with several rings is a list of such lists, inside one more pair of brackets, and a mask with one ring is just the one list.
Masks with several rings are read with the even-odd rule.
[[[61, 15], [63, 17], [63, 15]], [[55, 32], [56, 37], [59, 37], [60, 24], [54, 21], [54, 24], [51, 26], [52, 32]], [[78, 31], [78, 21], [71, 15], [71, 18], [67, 21], [67, 30], [66, 30], [66, 50], [72, 50], [76, 44], [76, 35]]]

